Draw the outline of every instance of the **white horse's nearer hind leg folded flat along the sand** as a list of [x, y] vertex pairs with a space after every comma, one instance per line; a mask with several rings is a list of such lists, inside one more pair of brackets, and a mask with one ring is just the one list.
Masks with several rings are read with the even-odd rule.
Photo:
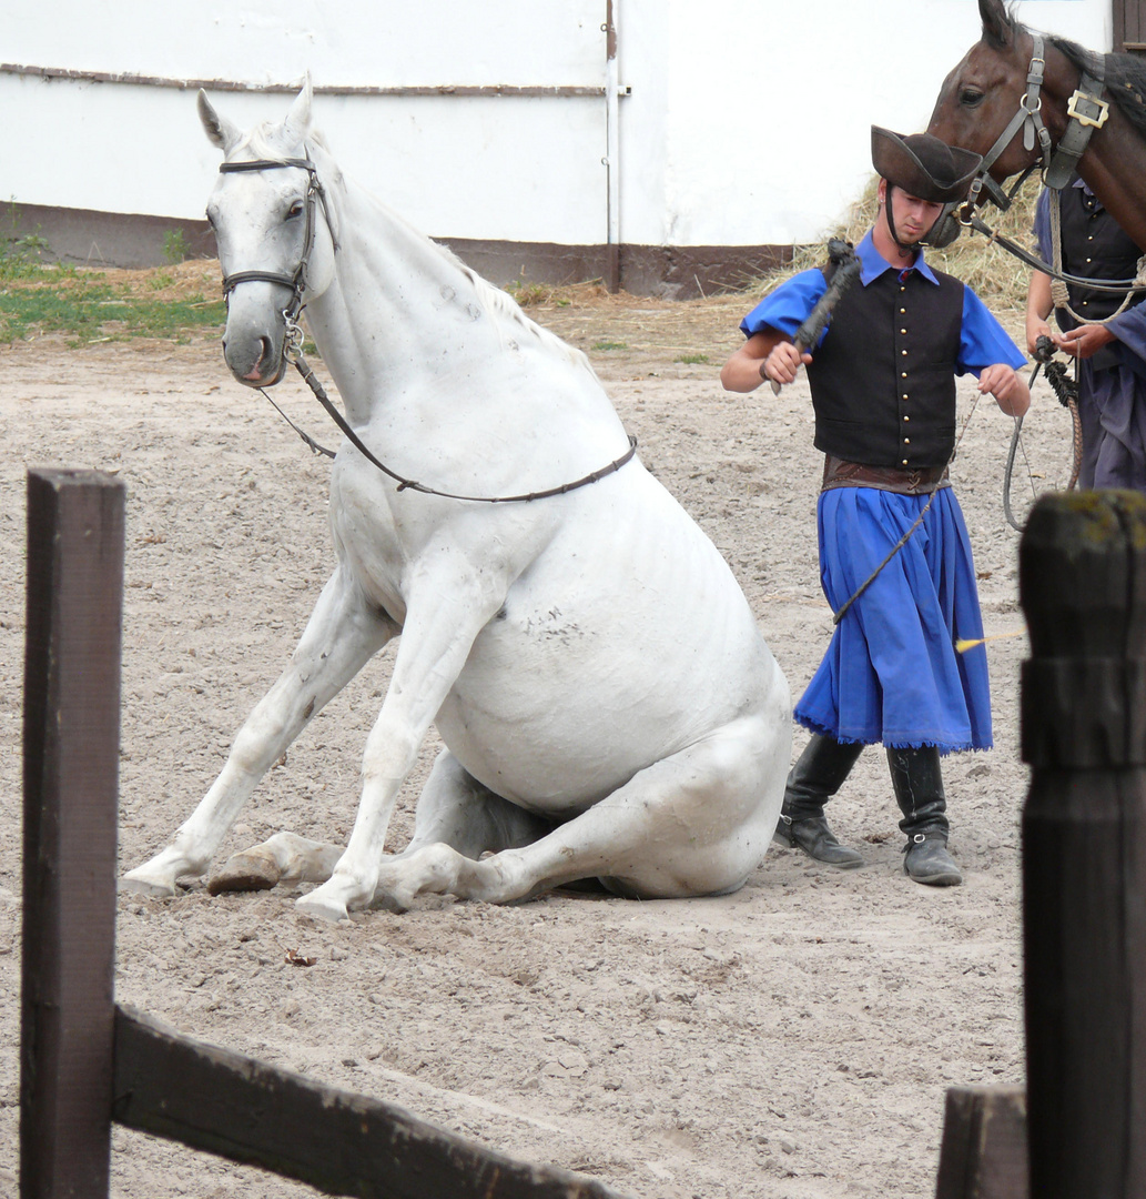
[[776, 829], [790, 748], [786, 711], [742, 717], [532, 844], [481, 861], [426, 845], [388, 861], [375, 902], [400, 908], [420, 893], [448, 893], [509, 903], [583, 878], [641, 898], [734, 891]]

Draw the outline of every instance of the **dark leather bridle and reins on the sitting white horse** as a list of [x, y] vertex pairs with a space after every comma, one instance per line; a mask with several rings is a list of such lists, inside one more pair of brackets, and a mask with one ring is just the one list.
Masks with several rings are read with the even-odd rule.
[[[234, 275], [224, 275], [223, 299], [229, 303], [231, 291], [234, 291], [240, 283], [278, 283], [282, 287], [290, 288], [290, 303], [282, 309], [285, 332], [283, 335], [283, 349], [279, 357], [279, 373], [282, 370], [283, 359], [292, 363], [298, 374], [302, 375], [307, 386], [314, 393], [314, 398], [322, 405], [322, 408], [326, 409], [326, 412], [342, 430], [346, 440], [350, 441], [350, 444], [358, 451], [358, 453], [362, 454], [363, 458], [366, 458], [367, 462], [369, 462], [373, 466], [376, 466], [384, 475], [394, 480], [398, 483], [399, 492], [422, 492], [424, 495], [438, 495], [447, 500], [469, 500], [471, 504], [527, 504], [531, 500], [544, 500], [553, 495], [565, 495], [567, 492], [575, 492], [579, 487], [586, 487], [590, 483], [596, 483], [607, 475], [611, 475], [620, 470], [635, 456], [637, 438], [628, 434], [628, 450], [621, 454], [620, 458], [615, 458], [601, 470], [591, 471], [583, 478], [574, 480], [572, 483], [562, 483], [559, 487], [550, 487], [542, 492], [529, 492], [521, 495], [458, 495], [453, 492], [440, 492], [436, 488], [427, 487], [424, 483], [418, 483], [412, 478], [405, 478], [397, 471], [391, 470], [384, 462], [375, 458], [357, 433], [355, 433], [350, 427], [346, 418], [338, 411], [338, 408], [333, 404], [330, 396], [326, 394], [322, 385], [310, 369], [309, 363], [302, 356], [303, 335], [302, 327], [298, 324], [298, 318], [302, 315], [302, 309], [306, 307], [303, 295], [307, 289], [307, 266], [310, 263], [310, 254], [314, 251], [314, 235], [316, 231], [314, 215], [318, 204], [322, 205], [322, 216], [326, 218], [326, 228], [330, 230], [334, 252], [337, 253], [339, 248], [338, 237], [334, 234], [334, 225], [331, 221], [330, 207], [326, 203], [326, 189], [322, 187], [322, 181], [319, 179], [318, 167], [315, 167], [309, 158], [254, 158], [249, 162], [224, 162], [219, 165], [219, 173], [229, 175], [240, 171], [279, 170], [286, 167], [296, 167], [300, 170], [304, 170], [308, 176], [306, 198], [307, 224], [298, 265], [295, 267], [294, 275], [285, 275], [279, 271], [236, 271]], [[278, 411], [278, 414], [298, 434], [298, 436], [302, 438], [314, 453], [326, 454], [327, 458], [334, 457], [334, 452], [332, 450], [320, 446], [314, 438], [300, 429], [298, 426], [295, 424], [295, 422], [291, 421], [290, 417], [286, 416], [286, 414], [278, 406], [278, 404], [271, 399], [263, 387], [259, 387], [259, 391], [266, 396], [276, 411]]]

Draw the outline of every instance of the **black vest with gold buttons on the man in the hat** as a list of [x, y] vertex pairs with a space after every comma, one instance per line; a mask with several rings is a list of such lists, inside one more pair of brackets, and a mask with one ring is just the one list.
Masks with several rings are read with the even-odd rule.
[[963, 284], [887, 270], [844, 293], [812, 351], [815, 446], [868, 466], [940, 466], [955, 444]]

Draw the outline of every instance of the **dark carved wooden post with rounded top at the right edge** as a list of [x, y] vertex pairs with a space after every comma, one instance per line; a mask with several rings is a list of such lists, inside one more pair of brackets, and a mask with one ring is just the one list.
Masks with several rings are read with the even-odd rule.
[[1060, 493], [1023, 535], [1031, 1194], [1146, 1195], [1146, 496]]

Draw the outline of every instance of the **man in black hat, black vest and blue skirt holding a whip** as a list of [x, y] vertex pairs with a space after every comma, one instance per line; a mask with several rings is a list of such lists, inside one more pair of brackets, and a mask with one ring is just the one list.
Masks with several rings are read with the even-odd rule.
[[776, 839], [821, 862], [861, 866], [832, 835], [824, 806], [863, 747], [881, 742], [907, 837], [904, 869], [917, 882], [953, 886], [963, 875], [947, 851], [940, 755], [991, 746], [985, 651], [955, 652], [957, 640], [981, 638], [983, 626], [947, 471], [954, 376], [977, 375], [979, 392], [1012, 416], [1026, 412], [1031, 397], [1015, 373], [1026, 360], [1014, 342], [919, 248], [943, 205], [966, 193], [979, 157], [928, 134], [873, 127], [871, 162], [879, 212], [856, 249], [860, 278], [819, 345], [809, 354], [794, 344], [827, 289], [826, 272], [810, 270], [744, 318], [747, 339], [720, 381], [748, 392], [765, 379], [791, 382], [807, 367], [815, 446], [825, 454], [820, 578], [833, 611], [846, 608], [796, 705], [812, 740], [789, 775]]

